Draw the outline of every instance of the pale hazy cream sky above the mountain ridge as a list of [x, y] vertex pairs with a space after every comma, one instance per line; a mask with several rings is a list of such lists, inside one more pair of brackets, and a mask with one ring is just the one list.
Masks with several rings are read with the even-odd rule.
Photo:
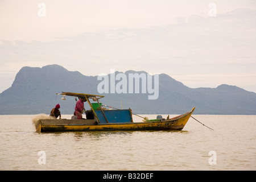
[[256, 92], [255, 12], [255, 0], [0, 0], [0, 93], [22, 67], [48, 64]]

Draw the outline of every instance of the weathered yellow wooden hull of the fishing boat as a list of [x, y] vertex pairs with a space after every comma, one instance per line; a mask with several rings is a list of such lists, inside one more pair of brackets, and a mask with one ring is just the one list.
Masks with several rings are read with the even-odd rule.
[[188, 113], [166, 121], [96, 123], [95, 119], [40, 119], [35, 125], [38, 132], [55, 131], [139, 131], [139, 130], [182, 130], [195, 107]]

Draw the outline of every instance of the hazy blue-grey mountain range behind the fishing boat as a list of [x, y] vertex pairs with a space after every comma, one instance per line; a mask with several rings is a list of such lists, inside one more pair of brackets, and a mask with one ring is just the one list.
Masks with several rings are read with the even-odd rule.
[[[117, 74], [120, 72], [116, 72]], [[129, 73], [141, 73], [126, 71]], [[154, 76], [153, 76], [154, 77]], [[75, 98], [61, 92], [104, 95], [104, 105], [128, 109], [135, 114], [183, 114], [196, 107], [195, 114], [256, 114], [256, 93], [222, 84], [217, 88], [189, 88], [174, 78], [159, 74], [159, 96], [148, 100], [148, 93], [98, 93], [98, 76], [85, 76], [60, 65], [23, 67], [11, 87], [0, 94], [0, 114], [49, 114], [60, 104], [62, 114], [73, 114]], [[115, 83], [117, 84], [117, 82]], [[85, 102], [86, 103], [86, 102]], [[122, 105], [121, 105], [122, 103]], [[89, 105], [85, 104], [85, 109]]]

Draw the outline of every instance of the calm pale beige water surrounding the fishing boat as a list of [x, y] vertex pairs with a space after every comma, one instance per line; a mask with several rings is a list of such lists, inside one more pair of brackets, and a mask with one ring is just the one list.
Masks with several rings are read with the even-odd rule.
[[256, 169], [256, 115], [193, 115], [214, 131], [190, 118], [182, 131], [70, 133], [36, 133], [34, 117], [0, 115], [1, 170]]

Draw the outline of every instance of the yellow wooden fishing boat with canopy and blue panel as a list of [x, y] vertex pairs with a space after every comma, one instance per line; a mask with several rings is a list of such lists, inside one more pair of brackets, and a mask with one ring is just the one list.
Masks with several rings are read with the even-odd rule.
[[[73, 96], [76, 98], [85, 97], [90, 106], [90, 110], [85, 111], [86, 119], [39, 119], [38, 122], [35, 123], [36, 131], [182, 130], [195, 110], [195, 107], [193, 107], [191, 111], [174, 118], [169, 118], [169, 115], [166, 119], [148, 119], [147, 117], [142, 117], [143, 122], [134, 122], [133, 115], [137, 114], [133, 114], [130, 108], [116, 109], [112, 107], [112, 109], [106, 109], [103, 107], [99, 99], [104, 96], [71, 92], [57, 94], [63, 96], [63, 98], [61, 98], [62, 100], [65, 100], [65, 96]], [[92, 103], [90, 100], [96, 102]]]

